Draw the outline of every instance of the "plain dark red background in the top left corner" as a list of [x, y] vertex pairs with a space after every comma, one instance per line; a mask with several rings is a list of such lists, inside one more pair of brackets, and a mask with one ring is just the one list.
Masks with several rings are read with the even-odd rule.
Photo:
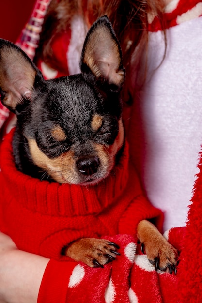
[[16, 42], [35, 0], [0, 0], [0, 38]]

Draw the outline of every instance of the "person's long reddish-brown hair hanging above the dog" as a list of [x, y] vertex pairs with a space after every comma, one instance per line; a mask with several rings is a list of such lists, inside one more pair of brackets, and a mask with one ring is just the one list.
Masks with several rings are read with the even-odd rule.
[[[80, 15], [88, 27], [98, 17], [108, 15], [122, 47], [126, 77], [130, 77], [132, 58], [135, 62], [133, 65], [137, 67], [140, 48], [147, 47], [148, 15], [156, 15], [161, 19], [162, 12], [161, 0], [52, 0], [44, 20], [36, 58], [40, 54], [48, 65], [60, 69], [51, 48], [54, 37], [70, 26], [74, 15]], [[138, 52], [135, 51], [137, 45]], [[128, 82], [125, 82], [124, 94], [128, 91]], [[129, 96], [124, 97], [124, 101], [127, 99]]]

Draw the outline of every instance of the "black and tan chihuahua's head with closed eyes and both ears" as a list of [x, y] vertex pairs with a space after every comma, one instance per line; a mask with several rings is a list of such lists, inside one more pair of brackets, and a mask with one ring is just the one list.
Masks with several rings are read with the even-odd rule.
[[38, 178], [45, 172], [59, 183], [87, 185], [113, 168], [124, 140], [124, 68], [106, 16], [89, 30], [80, 67], [80, 74], [45, 81], [22, 50], [0, 39], [1, 101], [17, 116], [14, 154], [21, 171], [33, 175], [31, 165]]

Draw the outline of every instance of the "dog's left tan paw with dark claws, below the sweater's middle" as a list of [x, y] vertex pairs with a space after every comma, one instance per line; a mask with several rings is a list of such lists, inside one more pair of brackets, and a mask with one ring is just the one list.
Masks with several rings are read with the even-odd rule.
[[103, 267], [120, 255], [119, 246], [104, 239], [83, 238], [72, 242], [65, 255], [90, 267]]

